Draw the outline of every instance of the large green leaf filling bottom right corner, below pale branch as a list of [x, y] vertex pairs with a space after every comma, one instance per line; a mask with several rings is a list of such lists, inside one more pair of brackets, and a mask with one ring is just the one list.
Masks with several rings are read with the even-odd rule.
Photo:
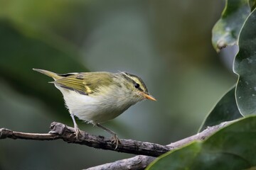
[[168, 152], [147, 169], [250, 169], [256, 165], [256, 116], [242, 118], [203, 142]]

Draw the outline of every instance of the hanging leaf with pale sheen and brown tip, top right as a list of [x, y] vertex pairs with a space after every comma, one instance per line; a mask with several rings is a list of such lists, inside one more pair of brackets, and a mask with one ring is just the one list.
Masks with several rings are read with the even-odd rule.
[[213, 27], [212, 43], [217, 52], [227, 45], [235, 45], [247, 16], [250, 14], [248, 0], [226, 0], [220, 20]]

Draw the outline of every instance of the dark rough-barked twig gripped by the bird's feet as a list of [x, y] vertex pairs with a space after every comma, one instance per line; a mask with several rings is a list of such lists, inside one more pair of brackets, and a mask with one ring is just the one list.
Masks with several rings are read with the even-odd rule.
[[0, 139], [23, 139], [23, 140], [58, 140], [62, 139], [68, 143], [87, 145], [100, 149], [114, 150], [117, 152], [125, 152], [129, 154], [143, 154], [152, 157], [158, 157], [161, 154], [168, 152], [171, 147], [154, 144], [150, 142], [140, 142], [135, 140], [120, 140], [121, 144], [112, 144], [110, 138], [102, 136], [90, 135], [87, 132], [81, 131], [82, 136], [78, 139], [75, 137], [75, 129], [68, 127], [62, 123], [51, 123], [50, 132], [46, 134], [15, 132], [5, 128], [0, 129]]

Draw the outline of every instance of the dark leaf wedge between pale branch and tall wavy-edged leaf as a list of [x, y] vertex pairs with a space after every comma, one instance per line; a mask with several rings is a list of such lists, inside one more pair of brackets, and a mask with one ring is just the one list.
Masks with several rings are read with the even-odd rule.
[[213, 108], [213, 111], [206, 116], [203, 121], [199, 132], [206, 129], [208, 126], [218, 125], [225, 121], [235, 120], [241, 118], [242, 115], [238, 110], [237, 103], [235, 101], [235, 86], [225, 94], [220, 101]]

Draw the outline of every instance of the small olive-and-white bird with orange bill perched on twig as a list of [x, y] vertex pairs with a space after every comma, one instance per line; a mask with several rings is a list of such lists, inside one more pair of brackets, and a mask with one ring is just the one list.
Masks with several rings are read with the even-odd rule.
[[74, 72], [56, 74], [45, 69], [33, 69], [53, 78], [50, 81], [63, 94], [65, 106], [73, 120], [75, 137], [81, 135], [75, 117], [92, 123], [109, 132], [111, 142], [117, 149], [120, 140], [117, 134], [102, 126], [102, 123], [116, 118], [139, 101], [156, 98], [149, 94], [140, 77], [127, 72]]

